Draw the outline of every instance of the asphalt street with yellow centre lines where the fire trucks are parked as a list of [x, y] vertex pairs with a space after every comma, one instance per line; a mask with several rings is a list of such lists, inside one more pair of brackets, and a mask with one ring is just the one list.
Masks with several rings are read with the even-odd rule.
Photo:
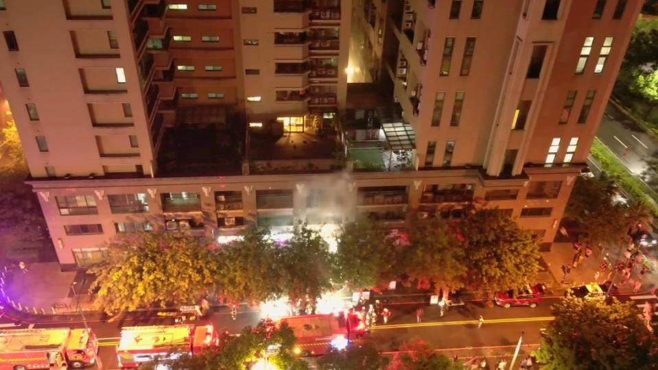
[[[644, 301], [656, 302], [654, 295], [643, 293], [639, 295], [620, 295], [620, 300], [634, 299], [642, 308]], [[447, 356], [458, 354], [462, 358], [471, 356], [487, 356], [489, 362], [495, 363], [497, 357], [513, 353], [521, 332], [524, 332], [522, 351], [530, 352], [539, 343], [540, 329], [552, 320], [550, 306], [560, 297], [545, 297], [537, 308], [513, 307], [487, 308], [484, 301], [468, 301], [461, 308], [450, 308], [444, 317], [440, 317], [436, 306], [423, 306], [422, 322], [416, 323], [417, 304], [401, 304], [392, 306], [392, 317], [387, 325], [378, 325], [369, 334], [381, 351], [391, 352], [403, 350], [403, 343], [422, 338], [427, 345], [439, 349]], [[477, 319], [484, 317], [484, 325], [478, 329]], [[209, 317], [198, 321], [200, 324], [209, 322], [220, 330], [239, 332], [245, 325], [255, 325], [263, 315], [255, 308], [242, 306], [236, 321], [232, 321], [226, 309], [220, 309]], [[9, 322], [7, 317], [0, 321]], [[153, 317], [144, 313], [143, 317], [130, 317], [124, 321], [113, 323], [89, 321], [89, 327], [99, 338], [99, 359], [105, 370], [117, 369], [115, 348], [118, 345], [120, 328], [132, 325], [170, 325], [171, 318]], [[23, 323], [21, 328], [27, 328]], [[84, 328], [82, 321], [59, 323], [41, 323], [34, 328]], [[491, 363], [491, 365], [493, 365]], [[94, 369], [97, 369], [94, 367]]]

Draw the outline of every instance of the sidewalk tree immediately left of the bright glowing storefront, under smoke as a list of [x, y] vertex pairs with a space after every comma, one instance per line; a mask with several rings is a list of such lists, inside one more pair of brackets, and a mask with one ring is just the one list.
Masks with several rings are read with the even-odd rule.
[[329, 246], [318, 232], [306, 225], [295, 226], [292, 238], [281, 247], [284, 292], [292, 302], [315, 302], [331, 288]]

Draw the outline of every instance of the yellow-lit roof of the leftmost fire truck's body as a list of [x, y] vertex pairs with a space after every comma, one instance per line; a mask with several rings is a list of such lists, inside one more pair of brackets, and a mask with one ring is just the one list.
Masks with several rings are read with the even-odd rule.
[[0, 330], [0, 352], [63, 349], [68, 328]]

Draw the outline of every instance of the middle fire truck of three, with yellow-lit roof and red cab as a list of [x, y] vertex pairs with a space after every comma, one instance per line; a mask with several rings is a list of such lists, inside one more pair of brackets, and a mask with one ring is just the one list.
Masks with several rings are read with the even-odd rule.
[[166, 360], [180, 353], [198, 354], [202, 349], [219, 344], [213, 325], [154, 325], [121, 328], [117, 348], [119, 367], [136, 368], [143, 362]]

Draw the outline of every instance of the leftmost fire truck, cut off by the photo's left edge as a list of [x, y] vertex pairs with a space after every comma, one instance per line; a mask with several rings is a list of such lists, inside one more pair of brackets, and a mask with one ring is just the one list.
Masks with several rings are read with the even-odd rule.
[[97, 351], [91, 329], [0, 330], [0, 370], [80, 369]]

